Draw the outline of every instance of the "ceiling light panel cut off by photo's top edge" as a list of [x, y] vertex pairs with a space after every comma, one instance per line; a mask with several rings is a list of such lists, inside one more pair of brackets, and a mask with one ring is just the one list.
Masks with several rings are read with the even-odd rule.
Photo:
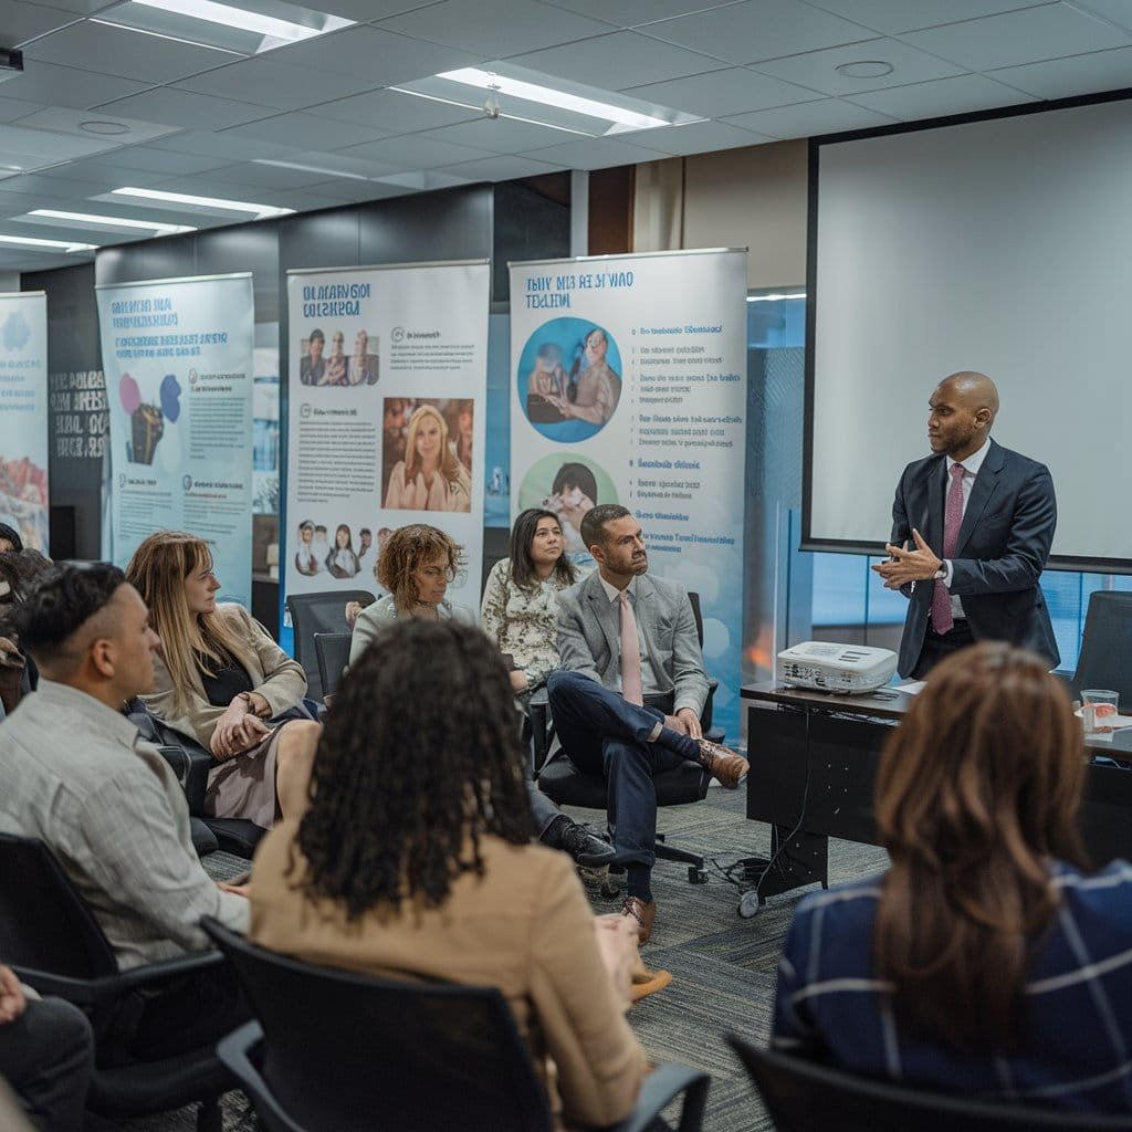
[[354, 20], [300, 8], [283, 0], [245, 0], [239, 7], [216, 0], [127, 0], [100, 11], [93, 23], [113, 24], [256, 55], [326, 35]]

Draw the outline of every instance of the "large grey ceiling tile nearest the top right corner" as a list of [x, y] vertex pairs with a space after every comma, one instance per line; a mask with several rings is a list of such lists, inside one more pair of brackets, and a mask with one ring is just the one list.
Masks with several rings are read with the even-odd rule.
[[1132, 34], [1067, 3], [1044, 5], [964, 24], [910, 32], [904, 38], [925, 51], [981, 71], [1132, 43]]

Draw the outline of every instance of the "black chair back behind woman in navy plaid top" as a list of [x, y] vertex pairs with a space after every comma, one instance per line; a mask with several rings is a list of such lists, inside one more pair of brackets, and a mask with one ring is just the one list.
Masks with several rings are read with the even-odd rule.
[[1089, 1116], [890, 1084], [818, 1062], [760, 1049], [735, 1034], [739, 1055], [779, 1132], [1113, 1132], [1127, 1116]]

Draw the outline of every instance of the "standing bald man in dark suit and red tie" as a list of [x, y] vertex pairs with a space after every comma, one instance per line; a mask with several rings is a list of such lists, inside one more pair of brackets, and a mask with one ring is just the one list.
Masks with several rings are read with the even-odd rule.
[[1061, 655], [1038, 585], [1057, 525], [1049, 470], [990, 439], [998, 391], [985, 374], [952, 374], [928, 405], [933, 454], [904, 469], [890, 557], [873, 567], [909, 599], [900, 675], [921, 679], [985, 640], [1032, 649], [1054, 668]]

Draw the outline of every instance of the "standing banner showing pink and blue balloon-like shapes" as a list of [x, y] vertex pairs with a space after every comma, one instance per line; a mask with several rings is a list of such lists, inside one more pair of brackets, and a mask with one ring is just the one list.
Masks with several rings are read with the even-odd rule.
[[110, 402], [113, 560], [179, 530], [212, 548], [221, 599], [251, 607], [251, 274], [96, 289]]

